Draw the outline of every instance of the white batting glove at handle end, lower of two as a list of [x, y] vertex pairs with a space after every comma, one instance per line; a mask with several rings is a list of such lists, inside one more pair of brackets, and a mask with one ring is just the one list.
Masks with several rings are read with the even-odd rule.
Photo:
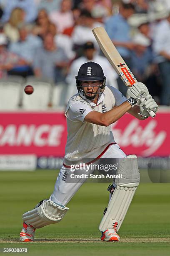
[[143, 117], [150, 116], [149, 112], [153, 110], [154, 113], [158, 111], [158, 105], [155, 102], [155, 100], [152, 98], [152, 96], [149, 94], [145, 97], [145, 100], [139, 100], [138, 104], [140, 103], [140, 113], [139, 115], [142, 115]]

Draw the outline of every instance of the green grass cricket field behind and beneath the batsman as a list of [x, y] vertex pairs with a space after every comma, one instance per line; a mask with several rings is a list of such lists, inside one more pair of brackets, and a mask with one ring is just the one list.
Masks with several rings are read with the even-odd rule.
[[[35, 242], [18, 237], [22, 214], [53, 191], [57, 171], [0, 172], [0, 255], [170, 255], [170, 184], [141, 183], [120, 228], [119, 243], [100, 241], [98, 225], [107, 206], [106, 183], [85, 183], [56, 225], [36, 230]], [[28, 248], [28, 253], [3, 253]]]

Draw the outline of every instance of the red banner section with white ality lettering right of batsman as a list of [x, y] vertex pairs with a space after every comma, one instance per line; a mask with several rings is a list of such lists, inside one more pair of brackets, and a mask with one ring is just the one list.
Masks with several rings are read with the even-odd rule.
[[127, 155], [170, 156], [169, 118], [170, 113], [158, 113], [155, 118], [141, 121], [126, 114], [112, 124], [112, 132]]

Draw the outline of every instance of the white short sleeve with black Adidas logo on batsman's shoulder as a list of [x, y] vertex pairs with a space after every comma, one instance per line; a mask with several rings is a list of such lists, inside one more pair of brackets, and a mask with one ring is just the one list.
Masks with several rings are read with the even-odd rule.
[[72, 121], [81, 121], [84, 123], [85, 116], [90, 113], [92, 108], [83, 103], [75, 103], [67, 110], [66, 116]]

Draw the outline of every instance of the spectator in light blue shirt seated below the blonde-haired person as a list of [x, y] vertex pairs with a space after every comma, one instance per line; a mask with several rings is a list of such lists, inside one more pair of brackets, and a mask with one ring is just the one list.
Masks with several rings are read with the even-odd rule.
[[28, 31], [28, 26], [21, 26], [19, 28], [20, 38], [18, 42], [10, 44], [9, 50], [23, 58], [25, 65], [28, 65], [28, 69], [32, 69], [35, 51], [38, 47], [42, 46], [42, 40]]

